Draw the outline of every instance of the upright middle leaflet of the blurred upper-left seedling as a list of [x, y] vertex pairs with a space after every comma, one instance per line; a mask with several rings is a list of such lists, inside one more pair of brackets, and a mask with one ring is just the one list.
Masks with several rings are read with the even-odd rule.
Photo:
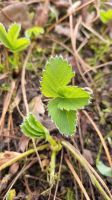
[[13, 42], [16, 42], [16, 40], [17, 40], [17, 38], [19, 36], [20, 30], [21, 30], [21, 25], [20, 24], [17, 24], [17, 23], [11, 24], [9, 29], [8, 29], [8, 38], [9, 38], [9, 40], [13, 41]]

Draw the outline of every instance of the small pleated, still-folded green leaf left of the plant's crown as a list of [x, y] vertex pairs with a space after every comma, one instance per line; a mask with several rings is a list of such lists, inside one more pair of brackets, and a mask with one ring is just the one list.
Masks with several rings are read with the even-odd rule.
[[31, 113], [25, 118], [20, 127], [22, 132], [30, 138], [45, 138], [45, 127]]

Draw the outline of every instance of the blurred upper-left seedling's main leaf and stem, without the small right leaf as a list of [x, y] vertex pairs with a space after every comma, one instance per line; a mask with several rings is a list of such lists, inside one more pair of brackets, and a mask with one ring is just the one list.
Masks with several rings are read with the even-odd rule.
[[20, 31], [21, 25], [18, 23], [11, 24], [8, 30], [0, 23], [0, 42], [12, 52], [12, 55], [7, 57], [9, 71], [14, 70], [17, 73], [20, 71], [20, 52], [30, 45], [29, 38], [19, 37]]

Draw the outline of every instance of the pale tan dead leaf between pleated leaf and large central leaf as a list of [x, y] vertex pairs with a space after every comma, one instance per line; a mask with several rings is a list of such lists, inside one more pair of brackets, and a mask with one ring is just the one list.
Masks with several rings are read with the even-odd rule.
[[38, 120], [42, 120], [45, 109], [42, 103], [41, 95], [34, 97], [29, 103], [29, 111], [34, 114]]

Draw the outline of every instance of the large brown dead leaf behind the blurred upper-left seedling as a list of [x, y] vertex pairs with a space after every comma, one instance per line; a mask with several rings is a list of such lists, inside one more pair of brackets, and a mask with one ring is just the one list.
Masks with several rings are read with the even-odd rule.
[[0, 22], [7, 27], [12, 22], [21, 23], [25, 29], [31, 27], [27, 4], [21, 2], [6, 6], [0, 11]]

